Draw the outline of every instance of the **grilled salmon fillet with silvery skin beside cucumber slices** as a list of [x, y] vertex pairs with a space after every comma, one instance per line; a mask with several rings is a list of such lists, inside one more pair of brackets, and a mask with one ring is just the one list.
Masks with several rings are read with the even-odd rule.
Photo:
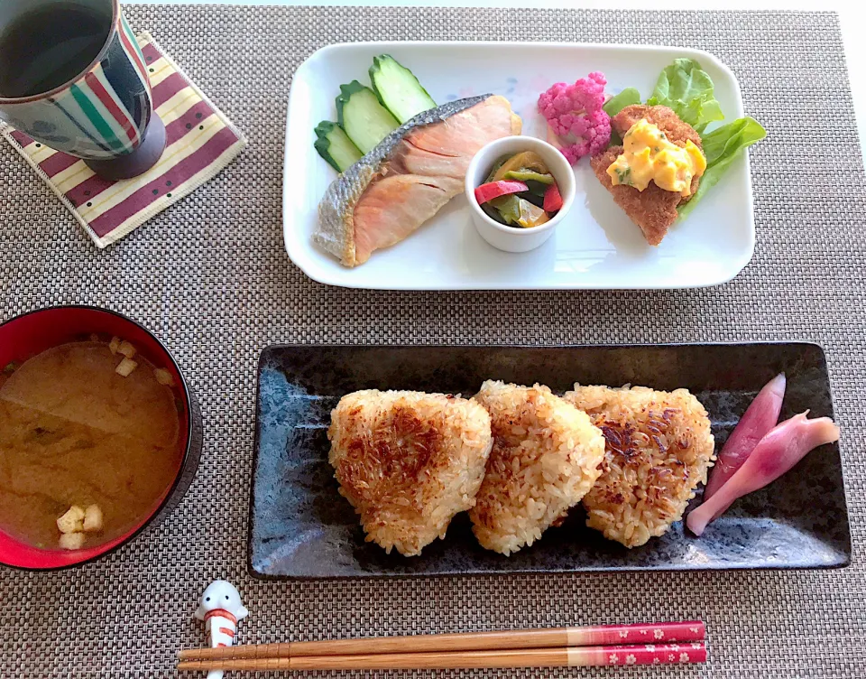
[[521, 133], [508, 100], [491, 94], [419, 113], [340, 175], [318, 205], [313, 241], [345, 266], [410, 236], [463, 191], [482, 146]]

